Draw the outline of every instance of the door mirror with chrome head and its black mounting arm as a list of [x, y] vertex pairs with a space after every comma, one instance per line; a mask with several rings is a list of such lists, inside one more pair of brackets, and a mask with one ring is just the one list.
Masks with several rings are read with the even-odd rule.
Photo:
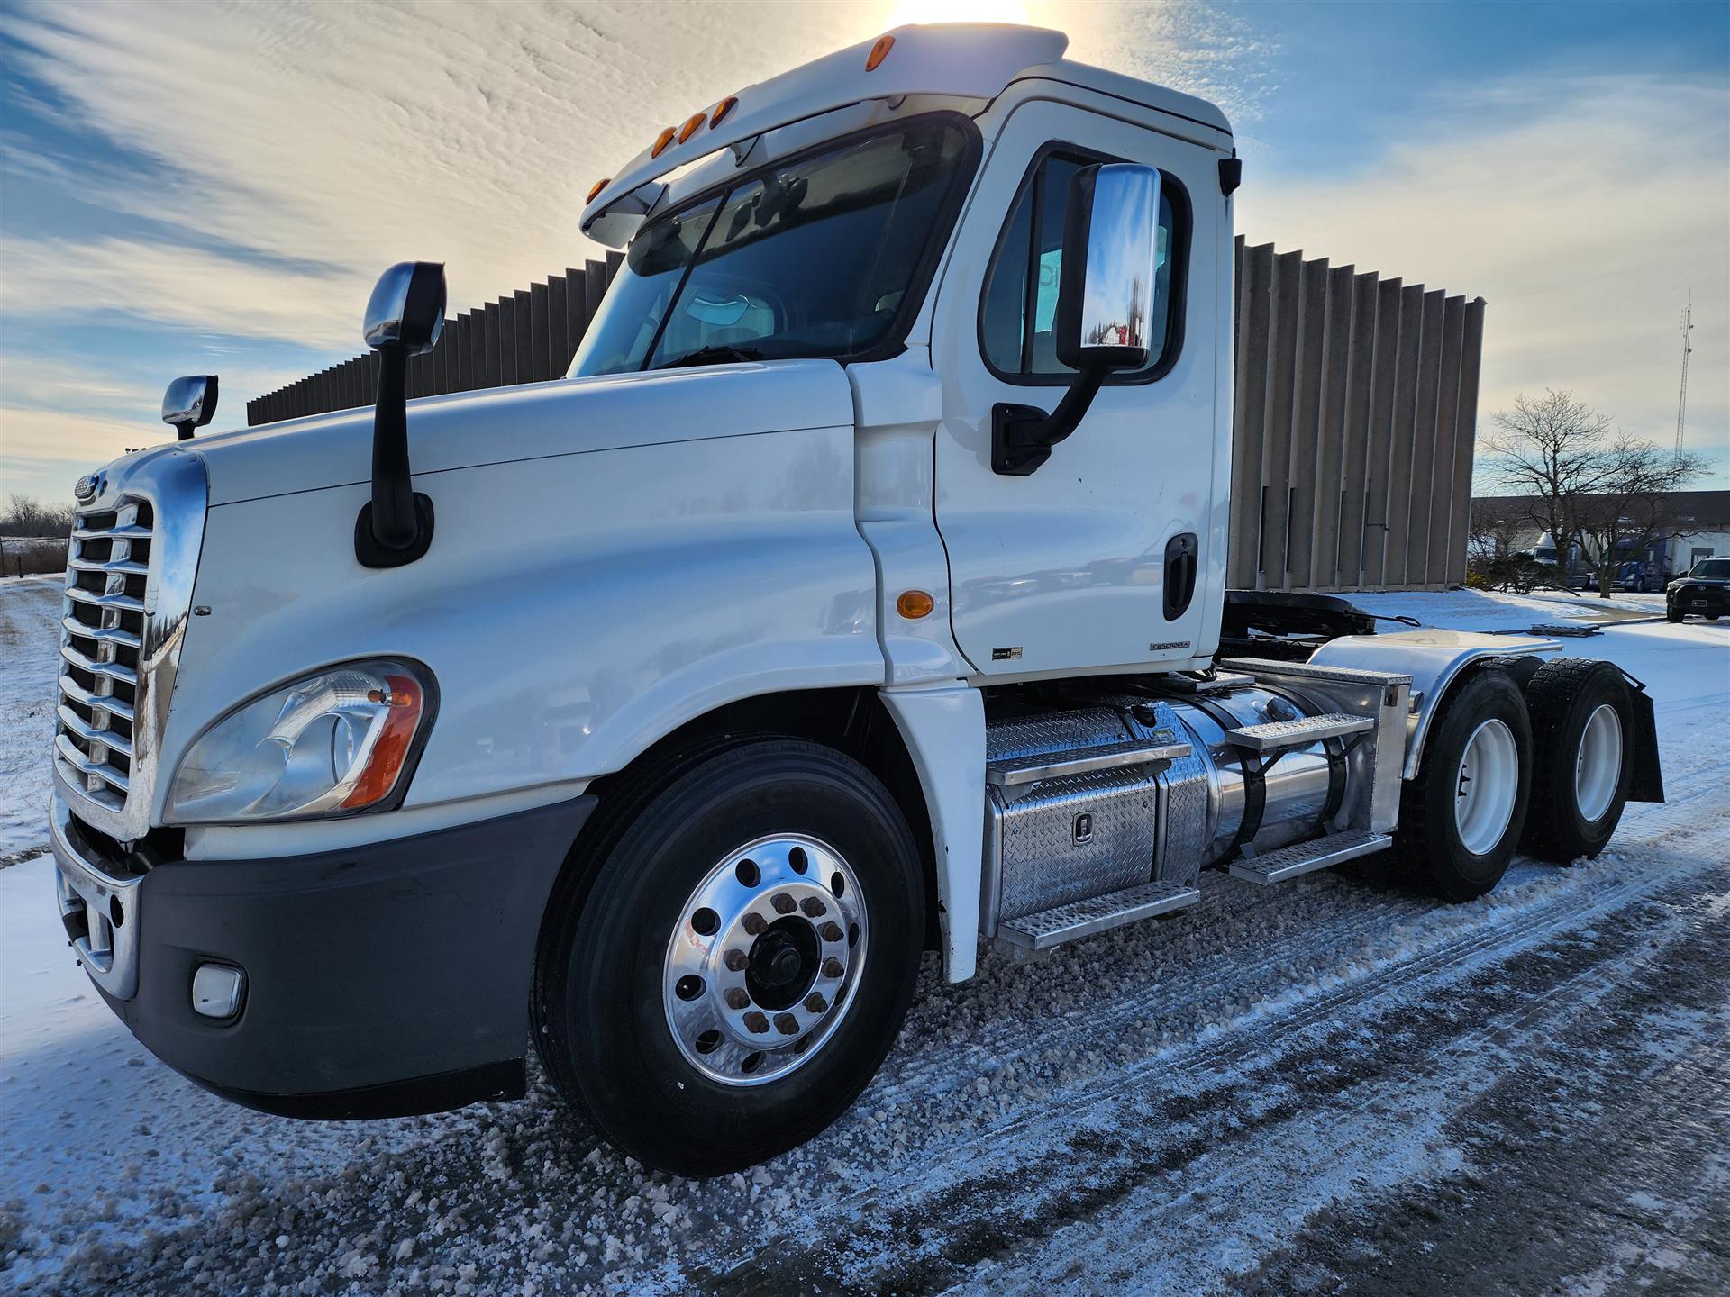
[[1137, 163], [1085, 166], [1069, 182], [1064, 259], [1054, 320], [1057, 360], [1078, 370], [1047, 415], [1033, 405], [991, 408], [991, 470], [1026, 477], [1076, 431], [1105, 375], [1147, 363], [1159, 249], [1159, 171]]

